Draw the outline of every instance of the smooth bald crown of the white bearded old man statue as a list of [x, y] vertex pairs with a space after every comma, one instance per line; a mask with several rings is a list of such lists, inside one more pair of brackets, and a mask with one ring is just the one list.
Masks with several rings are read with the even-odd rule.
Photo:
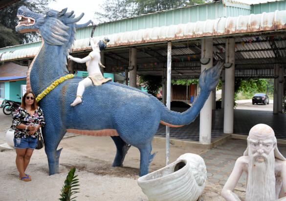
[[248, 137], [256, 140], [275, 139], [273, 129], [266, 124], [257, 124], [249, 131]]

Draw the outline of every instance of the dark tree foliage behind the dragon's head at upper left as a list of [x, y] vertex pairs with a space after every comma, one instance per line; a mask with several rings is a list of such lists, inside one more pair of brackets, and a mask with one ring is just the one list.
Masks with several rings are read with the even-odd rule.
[[0, 48], [38, 41], [37, 32], [19, 34], [15, 31], [18, 24], [17, 11], [21, 6], [36, 13], [44, 13], [49, 2], [54, 0], [20, 0], [0, 9]]

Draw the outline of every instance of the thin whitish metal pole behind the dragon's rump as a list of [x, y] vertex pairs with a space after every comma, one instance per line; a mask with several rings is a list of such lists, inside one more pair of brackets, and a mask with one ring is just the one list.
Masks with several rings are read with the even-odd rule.
[[[168, 42], [167, 57], [167, 108], [171, 108], [171, 66], [172, 66], [172, 44]], [[166, 126], [166, 165], [169, 165], [169, 144], [170, 144], [170, 127]]]

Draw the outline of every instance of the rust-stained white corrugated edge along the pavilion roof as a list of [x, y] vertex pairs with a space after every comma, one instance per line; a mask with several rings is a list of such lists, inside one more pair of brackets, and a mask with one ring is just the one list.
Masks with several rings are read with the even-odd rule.
[[[206, 23], [208, 26], [206, 26]], [[212, 28], [209, 28], [212, 27]], [[137, 31], [121, 32], [108, 35], [109, 47], [136, 46], [143, 44], [158, 44], [166, 41], [181, 41], [184, 39], [222, 38], [256, 32], [273, 32], [286, 30], [286, 10], [263, 14], [251, 14], [249, 16], [228, 17], [203, 22], [188, 22], [186, 24], [140, 29]], [[96, 40], [104, 36], [94, 37]], [[89, 50], [89, 38], [76, 40], [72, 51]], [[8, 61], [36, 55], [40, 47], [31, 47], [4, 52], [0, 61]]]

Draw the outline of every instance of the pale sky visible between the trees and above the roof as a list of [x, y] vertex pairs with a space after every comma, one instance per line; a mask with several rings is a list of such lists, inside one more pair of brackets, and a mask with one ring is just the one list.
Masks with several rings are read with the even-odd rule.
[[[85, 13], [84, 17], [78, 22], [79, 24], [88, 22], [88, 20], [92, 20], [94, 23], [96, 22], [93, 19], [94, 12], [100, 11], [100, 4], [103, 3], [104, 0], [56, 0], [56, 2], [51, 2], [49, 7], [55, 10], [61, 11], [62, 9], [67, 7], [67, 12], [74, 11], [75, 16], [79, 16], [81, 13]], [[275, 0], [236, 0], [243, 3], [265, 3]]]

